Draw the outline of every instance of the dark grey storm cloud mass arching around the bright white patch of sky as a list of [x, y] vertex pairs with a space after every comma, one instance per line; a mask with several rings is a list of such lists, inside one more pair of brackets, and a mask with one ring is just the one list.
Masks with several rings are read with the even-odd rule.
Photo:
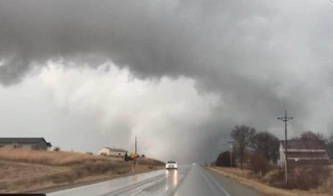
[[[50, 61], [64, 69], [112, 62], [145, 82], [191, 80], [198, 95], [218, 100], [209, 118], [183, 127], [204, 131], [202, 154], [220, 148], [214, 143], [228, 140], [235, 124], [281, 136], [276, 117], [285, 109], [295, 117], [293, 134], [331, 132], [330, 1], [12, 0], [0, 2], [0, 27], [5, 86]], [[128, 125], [119, 126], [133, 131]]]

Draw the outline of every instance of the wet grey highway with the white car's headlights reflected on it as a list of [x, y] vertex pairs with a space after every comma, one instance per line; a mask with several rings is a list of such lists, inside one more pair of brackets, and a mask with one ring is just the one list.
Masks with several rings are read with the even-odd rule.
[[262, 195], [198, 165], [158, 170], [47, 193], [67, 195]]

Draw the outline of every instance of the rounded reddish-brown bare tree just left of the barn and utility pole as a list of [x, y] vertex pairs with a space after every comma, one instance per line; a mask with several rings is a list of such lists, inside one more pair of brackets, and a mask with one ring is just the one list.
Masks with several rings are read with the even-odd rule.
[[279, 144], [279, 138], [267, 131], [258, 132], [251, 140], [251, 148], [274, 163], [277, 162], [279, 156]]

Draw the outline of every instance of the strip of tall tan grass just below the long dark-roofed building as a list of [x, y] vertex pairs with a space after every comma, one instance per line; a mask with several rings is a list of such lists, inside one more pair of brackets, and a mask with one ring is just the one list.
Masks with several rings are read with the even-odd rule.
[[0, 160], [47, 165], [71, 165], [82, 162], [108, 161], [107, 157], [76, 152], [0, 149]]

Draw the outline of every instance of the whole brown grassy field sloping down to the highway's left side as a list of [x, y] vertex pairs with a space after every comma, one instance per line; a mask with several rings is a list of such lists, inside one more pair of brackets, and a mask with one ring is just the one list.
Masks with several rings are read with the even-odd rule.
[[74, 152], [0, 150], [0, 193], [35, 191], [55, 186], [110, 178], [120, 174], [160, 169], [164, 163]]

